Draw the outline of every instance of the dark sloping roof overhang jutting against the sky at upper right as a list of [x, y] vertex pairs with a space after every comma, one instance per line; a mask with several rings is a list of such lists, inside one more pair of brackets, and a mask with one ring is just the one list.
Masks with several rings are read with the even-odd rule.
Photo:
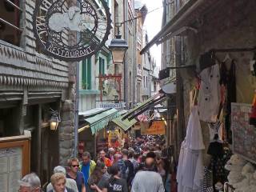
[[158, 32], [152, 38], [150, 42], [141, 50], [140, 54], [144, 54], [150, 49], [154, 44], [160, 44], [169, 38], [174, 37], [183, 33], [185, 30], [194, 30], [194, 28], [189, 27], [190, 22], [195, 21], [198, 16], [205, 13], [210, 7], [216, 6], [217, 2], [222, 2], [221, 0], [190, 0], [187, 1], [178, 13], [174, 15], [174, 18], [162, 27], [162, 30]]

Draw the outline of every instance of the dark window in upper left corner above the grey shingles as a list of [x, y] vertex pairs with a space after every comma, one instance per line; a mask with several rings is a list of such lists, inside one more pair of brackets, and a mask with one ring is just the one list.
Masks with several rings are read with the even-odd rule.
[[0, 39], [14, 46], [20, 46], [22, 9], [19, 0], [0, 1]]

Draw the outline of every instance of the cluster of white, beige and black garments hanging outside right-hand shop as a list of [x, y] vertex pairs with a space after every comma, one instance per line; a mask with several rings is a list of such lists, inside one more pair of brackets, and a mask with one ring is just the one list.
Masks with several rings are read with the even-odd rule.
[[[199, 90], [198, 97], [195, 92], [192, 99], [194, 105], [198, 106], [191, 107], [186, 138], [182, 142], [178, 159], [179, 192], [217, 191], [227, 179], [224, 166], [231, 153], [223, 148], [222, 136], [225, 131], [222, 127], [226, 128], [226, 134], [230, 138], [231, 102], [236, 101], [235, 62], [232, 60], [230, 70], [227, 70], [225, 62], [214, 64], [214, 59], [211, 54], [200, 58], [200, 65], [206, 61], [211, 63], [204, 63], [196, 86]], [[224, 120], [221, 114], [224, 115]], [[206, 167], [202, 163], [202, 150], [205, 146], [200, 120], [208, 123], [210, 133], [210, 145], [206, 151], [211, 159], [210, 165]]]

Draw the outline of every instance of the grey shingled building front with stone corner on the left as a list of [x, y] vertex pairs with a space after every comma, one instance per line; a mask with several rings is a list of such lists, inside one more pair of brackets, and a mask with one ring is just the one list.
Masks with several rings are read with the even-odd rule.
[[[0, 2], [6, 20], [0, 22], [0, 134], [4, 139], [31, 131], [30, 171], [44, 184], [54, 166], [66, 165], [74, 154], [76, 63], [42, 54], [32, 26], [35, 0], [15, 3], [19, 9]], [[50, 109], [61, 117], [56, 131], [50, 130]]]

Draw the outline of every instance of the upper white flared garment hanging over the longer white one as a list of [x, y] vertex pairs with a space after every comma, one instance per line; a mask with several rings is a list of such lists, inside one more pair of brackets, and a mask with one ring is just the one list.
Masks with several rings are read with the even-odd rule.
[[198, 106], [192, 106], [189, 122], [186, 128], [186, 146], [190, 150], [204, 150], [202, 128], [198, 116]]

